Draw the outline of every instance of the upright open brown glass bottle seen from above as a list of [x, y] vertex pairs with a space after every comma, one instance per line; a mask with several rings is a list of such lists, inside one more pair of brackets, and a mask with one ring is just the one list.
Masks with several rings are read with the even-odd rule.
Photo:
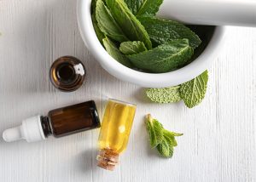
[[83, 84], [85, 68], [79, 59], [73, 56], [63, 56], [51, 65], [49, 77], [55, 88], [64, 92], [72, 92]]

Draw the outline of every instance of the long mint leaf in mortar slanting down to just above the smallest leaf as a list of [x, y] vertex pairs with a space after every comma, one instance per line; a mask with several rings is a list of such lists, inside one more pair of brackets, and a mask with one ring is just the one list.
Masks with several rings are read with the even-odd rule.
[[147, 48], [152, 48], [147, 31], [123, 0], [106, 0], [106, 3], [114, 20], [119, 24], [119, 27], [122, 27], [126, 37], [131, 41], [142, 41]]

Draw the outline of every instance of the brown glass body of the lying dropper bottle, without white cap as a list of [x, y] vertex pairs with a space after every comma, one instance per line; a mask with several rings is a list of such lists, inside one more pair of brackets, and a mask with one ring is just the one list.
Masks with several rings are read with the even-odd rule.
[[55, 137], [61, 137], [100, 127], [94, 101], [49, 111], [46, 118], [43, 119], [45, 122], [42, 122], [45, 128], [50, 128], [45, 130], [46, 136], [53, 134]]

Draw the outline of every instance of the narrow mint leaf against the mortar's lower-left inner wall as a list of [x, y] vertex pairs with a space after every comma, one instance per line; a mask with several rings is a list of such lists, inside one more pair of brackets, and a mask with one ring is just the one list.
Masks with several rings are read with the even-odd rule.
[[108, 38], [103, 39], [104, 47], [106, 48], [109, 55], [113, 57], [114, 60], [119, 61], [122, 65], [127, 67], [132, 67], [131, 62], [125, 57], [124, 54], [121, 54], [119, 49], [115, 46], [115, 44]]

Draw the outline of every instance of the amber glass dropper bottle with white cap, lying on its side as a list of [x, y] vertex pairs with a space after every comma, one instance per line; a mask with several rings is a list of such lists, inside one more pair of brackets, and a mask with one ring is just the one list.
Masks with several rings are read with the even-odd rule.
[[7, 142], [26, 139], [27, 142], [47, 139], [49, 135], [62, 137], [101, 126], [93, 100], [49, 111], [47, 117], [36, 116], [22, 121], [17, 128], [3, 132]]

